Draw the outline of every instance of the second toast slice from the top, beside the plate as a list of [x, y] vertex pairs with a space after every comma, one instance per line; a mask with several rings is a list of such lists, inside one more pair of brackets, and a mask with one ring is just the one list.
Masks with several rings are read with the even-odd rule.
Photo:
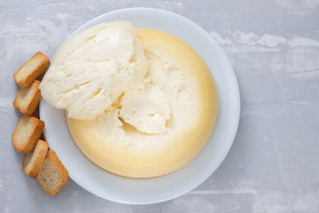
[[35, 80], [27, 87], [19, 88], [16, 98], [13, 101], [13, 106], [20, 111], [21, 114], [33, 114], [35, 108], [41, 99], [41, 91], [39, 84], [41, 82]]

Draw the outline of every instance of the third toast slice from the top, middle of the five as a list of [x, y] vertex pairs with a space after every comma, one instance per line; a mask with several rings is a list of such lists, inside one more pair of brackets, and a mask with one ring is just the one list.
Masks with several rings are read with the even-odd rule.
[[44, 122], [33, 116], [22, 115], [16, 129], [12, 133], [12, 144], [19, 153], [27, 154], [35, 148], [40, 138]]

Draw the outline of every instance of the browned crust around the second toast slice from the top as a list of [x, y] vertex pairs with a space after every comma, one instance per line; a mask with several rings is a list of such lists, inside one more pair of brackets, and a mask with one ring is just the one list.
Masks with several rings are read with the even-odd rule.
[[[31, 115], [35, 111], [35, 108], [41, 99], [41, 91], [39, 89], [40, 83], [40, 81], [35, 80], [31, 85], [19, 88], [16, 98], [13, 101], [13, 106], [18, 109], [21, 114]], [[20, 93], [25, 90], [32, 91], [32, 98], [27, 105], [23, 105], [20, 98]]]

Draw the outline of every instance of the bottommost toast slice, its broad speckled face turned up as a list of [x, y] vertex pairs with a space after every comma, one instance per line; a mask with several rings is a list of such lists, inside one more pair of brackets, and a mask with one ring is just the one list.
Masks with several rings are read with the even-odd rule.
[[56, 195], [67, 184], [67, 170], [52, 149], [48, 150], [36, 180], [43, 188], [44, 193], [51, 196]]

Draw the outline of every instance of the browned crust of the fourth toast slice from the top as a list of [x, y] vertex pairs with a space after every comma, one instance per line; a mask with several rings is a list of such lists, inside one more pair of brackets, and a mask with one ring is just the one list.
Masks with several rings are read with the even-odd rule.
[[36, 178], [39, 175], [45, 155], [48, 152], [49, 144], [46, 141], [39, 139], [35, 145], [35, 148], [38, 148], [38, 150], [37, 150], [37, 154], [35, 156], [35, 161], [33, 162], [32, 168], [30, 170], [27, 170], [27, 155], [31, 153], [26, 154], [22, 162], [22, 170], [29, 177], [33, 177], [33, 178]]

